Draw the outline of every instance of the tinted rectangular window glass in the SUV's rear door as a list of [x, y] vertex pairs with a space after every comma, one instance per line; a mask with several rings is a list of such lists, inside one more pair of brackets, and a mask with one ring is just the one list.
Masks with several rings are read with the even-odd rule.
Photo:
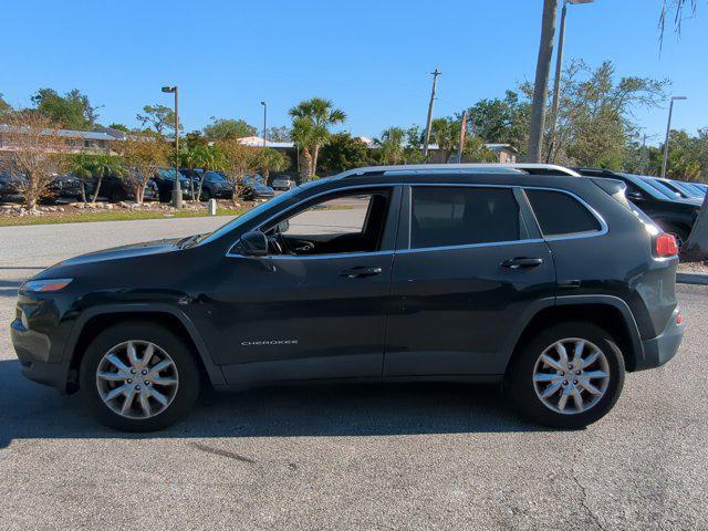
[[412, 209], [412, 249], [525, 238], [508, 188], [414, 187]]

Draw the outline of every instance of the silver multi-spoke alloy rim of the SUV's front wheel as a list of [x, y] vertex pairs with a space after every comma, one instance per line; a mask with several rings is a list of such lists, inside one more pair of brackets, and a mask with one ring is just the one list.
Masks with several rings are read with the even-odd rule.
[[106, 352], [96, 369], [103, 403], [126, 418], [155, 417], [177, 395], [179, 376], [170, 355], [148, 341], [126, 341]]

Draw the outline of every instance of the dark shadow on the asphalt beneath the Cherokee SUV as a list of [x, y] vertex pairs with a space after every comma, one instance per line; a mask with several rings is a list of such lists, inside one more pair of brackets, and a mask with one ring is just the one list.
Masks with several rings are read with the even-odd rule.
[[507, 406], [499, 386], [346, 384], [206, 393], [181, 423], [150, 434], [102, 427], [81, 395], [25, 379], [0, 362], [0, 448], [28, 438], [337, 437], [540, 431]]

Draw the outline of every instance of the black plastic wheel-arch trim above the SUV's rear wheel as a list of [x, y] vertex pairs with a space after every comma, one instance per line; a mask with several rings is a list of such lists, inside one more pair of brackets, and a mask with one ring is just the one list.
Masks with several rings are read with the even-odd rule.
[[550, 324], [562, 321], [590, 321], [606, 330], [617, 342], [627, 371], [634, 371], [644, 358], [639, 330], [626, 302], [613, 295], [558, 296], [553, 303], [539, 304], [522, 320], [511, 334], [506, 374], [513, 365], [522, 346]]

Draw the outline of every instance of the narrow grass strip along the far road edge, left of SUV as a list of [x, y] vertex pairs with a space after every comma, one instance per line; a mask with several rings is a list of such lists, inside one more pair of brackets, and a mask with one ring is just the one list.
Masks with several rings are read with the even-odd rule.
[[[244, 208], [217, 208], [217, 216], [240, 216]], [[132, 219], [169, 219], [207, 217], [205, 210], [181, 210], [179, 212], [160, 210], [71, 210], [66, 212], [46, 212], [43, 216], [0, 216], [0, 227], [14, 225], [83, 223], [86, 221], [128, 221]]]

